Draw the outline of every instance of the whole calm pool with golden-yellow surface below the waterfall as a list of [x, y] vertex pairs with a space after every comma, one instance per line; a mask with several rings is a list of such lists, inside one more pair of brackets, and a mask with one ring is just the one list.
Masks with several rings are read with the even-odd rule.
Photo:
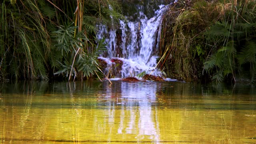
[[256, 143], [249, 91], [178, 82], [2, 86], [0, 144]]

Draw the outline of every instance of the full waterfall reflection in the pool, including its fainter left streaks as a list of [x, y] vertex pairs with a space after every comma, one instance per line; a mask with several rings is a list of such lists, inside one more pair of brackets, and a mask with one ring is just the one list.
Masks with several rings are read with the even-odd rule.
[[[159, 128], [156, 117], [155, 104], [157, 103], [156, 91], [160, 83], [114, 83], [107, 88], [105, 98], [109, 107], [120, 106], [120, 121], [118, 134], [134, 134], [138, 141], [150, 140], [159, 142]], [[121, 90], [116, 92], [116, 90]], [[114, 99], [111, 99], [114, 98]], [[115, 109], [106, 111], [112, 122]], [[118, 119], [118, 118], [116, 118]], [[113, 123], [109, 124], [113, 124]]]

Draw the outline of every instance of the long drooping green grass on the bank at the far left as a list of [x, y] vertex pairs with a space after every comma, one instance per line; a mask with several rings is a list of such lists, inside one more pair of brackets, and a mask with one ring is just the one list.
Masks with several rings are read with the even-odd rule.
[[50, 44], [40, 10], [31, 0], [1, 5], [1, 64], [10, 74], [2, 71], [0, 77], [47, 80], [45, 58]]

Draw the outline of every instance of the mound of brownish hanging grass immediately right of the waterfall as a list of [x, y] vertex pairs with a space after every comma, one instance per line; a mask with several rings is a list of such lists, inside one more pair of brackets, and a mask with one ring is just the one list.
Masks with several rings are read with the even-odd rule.
[[203, 62], [210, 46], [204, 32], [218, 19], [220, 9], [206, 0], [183, 0], [164, 16], [160, 44], [161, 69], [170, 78], [202, 79]]

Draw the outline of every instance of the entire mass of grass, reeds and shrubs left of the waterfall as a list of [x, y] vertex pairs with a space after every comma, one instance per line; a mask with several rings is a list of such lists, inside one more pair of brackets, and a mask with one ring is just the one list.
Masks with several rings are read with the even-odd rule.
[[4, 0], [0, 7], [0, 80], [89, 78], [104, 50], [104, 39], [95, 39], [99, 23], [124, 18], [116, 0]]

